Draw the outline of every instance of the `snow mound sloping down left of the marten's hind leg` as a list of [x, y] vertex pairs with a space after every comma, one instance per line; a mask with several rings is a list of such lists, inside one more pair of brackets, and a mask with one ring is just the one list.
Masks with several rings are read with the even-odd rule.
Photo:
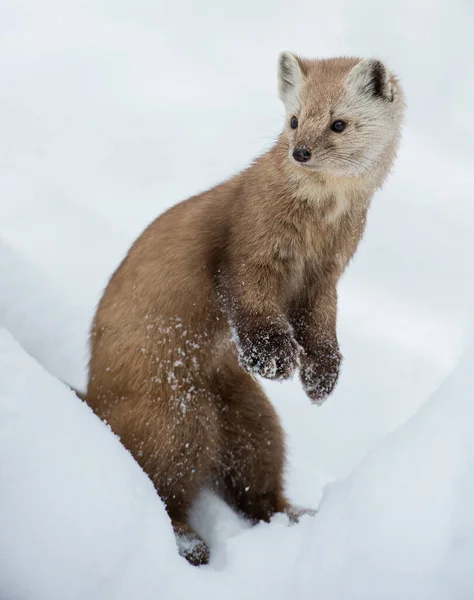
[[183, 561], [150, 480], [2, 329], [0, 423], [0, 597], [173, 597]]

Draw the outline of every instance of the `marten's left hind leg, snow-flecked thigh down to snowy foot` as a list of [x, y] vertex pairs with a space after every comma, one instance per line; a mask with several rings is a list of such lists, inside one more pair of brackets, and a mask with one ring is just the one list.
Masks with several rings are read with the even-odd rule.
[[108, 416], [112, 429], [150, 477], [171, 519], [181, 556], [209, 562], [209, 548], [188, 524], [199, 490], [209, 483], [219, 454], [216, 406], [206, 390], [161, 398], [130, 398]]

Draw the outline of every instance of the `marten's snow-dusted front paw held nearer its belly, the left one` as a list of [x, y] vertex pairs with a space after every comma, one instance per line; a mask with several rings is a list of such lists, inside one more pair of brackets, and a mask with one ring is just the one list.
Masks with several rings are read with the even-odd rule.
[[243, 369], [266, 379], [288, 379], [298, 366], [300, 348], [289, 331], [259, 328], [239, 335], [239, 362]]

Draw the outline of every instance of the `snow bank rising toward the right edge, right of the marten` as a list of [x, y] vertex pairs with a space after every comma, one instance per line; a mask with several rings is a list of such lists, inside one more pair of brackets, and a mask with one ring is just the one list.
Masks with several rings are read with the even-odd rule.
[[437, 393], [331, 486], [295, 571], [298, 598], [474, 597], [474, 345]]

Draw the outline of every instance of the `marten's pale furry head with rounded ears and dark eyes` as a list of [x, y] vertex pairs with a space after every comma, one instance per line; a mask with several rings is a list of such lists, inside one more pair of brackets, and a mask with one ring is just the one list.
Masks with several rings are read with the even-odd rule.
[[279, 95], [286, 108], [283, 140], [295, 166], [358, 177], [396, 142], [403, 94], [377, 59], [306, 60], [282, 52]]

